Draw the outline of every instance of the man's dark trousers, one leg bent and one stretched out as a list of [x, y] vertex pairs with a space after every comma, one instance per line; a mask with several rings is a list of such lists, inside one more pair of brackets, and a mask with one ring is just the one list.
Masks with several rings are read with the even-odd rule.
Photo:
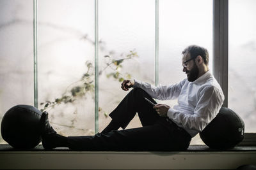
[[68, 147], [73, 150], [134, 150], [134, 151], [170, 151], [186, 150], [191, 136], [178, 127], [172, 120], [159, 117], [147, 97], [156, 103], [142, 89], [132, 89], [122, 102], [110, 113], [113, 121], [123, 129], [136, 113], [143, 127], [98, 133], [95, 136], [68, 137]]

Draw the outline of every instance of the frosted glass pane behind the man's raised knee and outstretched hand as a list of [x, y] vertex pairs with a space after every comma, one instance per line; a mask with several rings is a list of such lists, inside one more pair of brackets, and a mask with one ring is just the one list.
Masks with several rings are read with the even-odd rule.
[[[136, 78], [154, 84], [155, 1], [100, 0], [99, 39], [99, 70], [104, 70], [99, 75], [101, 131], [110, 120], [106, 116], [127, 94], [120, 88], [120, 78], [120, 81]], [[137, 53], [138, 57], [132, 55], [127, 59], [132, 53]], [[106, 55], [110, 57], [104, 57]], [[113, 63], [105, 69], [108, 63], [119, 59], [125, 59], [120, 63], [122, 67], [116, 69], [119, 64]], [[136, 117], [127, 128], [140, 126]]]

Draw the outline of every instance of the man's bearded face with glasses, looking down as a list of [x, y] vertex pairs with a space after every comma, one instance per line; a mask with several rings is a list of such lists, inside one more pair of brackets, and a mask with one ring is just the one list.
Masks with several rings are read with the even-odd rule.
[[[198, 78], [199, 69], [196, 66], [195, 60], [189, 60], [189, 59], [191, 59], [189, 53], [184, 54], [182, 58], [182, 63], [183, 63], [182, 65], [186, 67], [183, 66], [183, 71], [187, 74], [188, 81], [193, 82]], [[186, 62], [186, 60], [189, 60], [189, 62]]]

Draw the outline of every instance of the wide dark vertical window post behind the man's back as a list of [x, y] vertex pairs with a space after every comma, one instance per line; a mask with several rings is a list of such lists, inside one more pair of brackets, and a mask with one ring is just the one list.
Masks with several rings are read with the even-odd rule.
[[213, 74], [228, 106], [228, 1], [213, 1]]

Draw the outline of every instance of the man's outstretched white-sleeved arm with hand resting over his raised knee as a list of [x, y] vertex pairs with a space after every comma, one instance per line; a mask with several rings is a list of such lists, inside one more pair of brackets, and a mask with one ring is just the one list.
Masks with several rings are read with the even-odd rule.
[[176, 99], [179, 97], [182, 86], [184, 85], [186, 79], [176, 83], [175, 85], [159, 85], [157, 87], [150, 85], [150, 83], [145, 83], [139, 80], [124, 80], [121, 87], [123, 90], [127, 91], [129, 88], [141, 88], [145, 90], [152, 98], [159, 100]]

